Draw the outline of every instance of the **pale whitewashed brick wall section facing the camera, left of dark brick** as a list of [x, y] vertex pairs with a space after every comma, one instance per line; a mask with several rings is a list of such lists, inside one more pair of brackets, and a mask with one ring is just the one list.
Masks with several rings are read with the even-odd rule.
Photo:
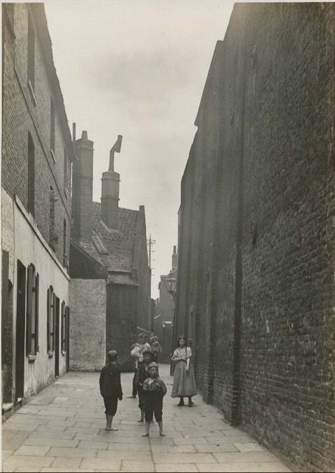
[[70, 281], [70, 369], [101, 370], [106, 352], [106, 281]]

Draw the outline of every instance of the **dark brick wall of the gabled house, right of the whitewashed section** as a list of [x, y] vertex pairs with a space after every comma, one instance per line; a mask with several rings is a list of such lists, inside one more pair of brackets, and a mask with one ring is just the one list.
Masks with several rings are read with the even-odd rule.
[[117, 350], [119, 366], [123, 371], [133, 371], [131, 344], [136, 338], [137, 287], [121, 284], [107, 285], [106, 353]]

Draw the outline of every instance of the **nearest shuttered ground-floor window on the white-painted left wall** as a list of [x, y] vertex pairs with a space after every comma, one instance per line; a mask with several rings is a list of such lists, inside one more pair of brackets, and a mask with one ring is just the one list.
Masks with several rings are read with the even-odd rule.
[[38, 273], [34, 264], [30, 264], [27, 280], [27, 356], [38, 352], [38, 285]]

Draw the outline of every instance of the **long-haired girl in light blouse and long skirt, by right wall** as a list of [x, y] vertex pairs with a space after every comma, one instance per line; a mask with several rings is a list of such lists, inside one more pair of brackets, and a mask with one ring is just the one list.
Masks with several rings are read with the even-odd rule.
[[180, 398], [179, 406], [184, 405], [184, 397], [188, 397], [188, 407], [193, 406], [192, 396], [197, 393], [193, 366], [191, 364], [192, 350], [187, 346], [186, 338], [179, 337], [178, 346], [172, 355], [172, 361], [177, 362], [174, 368], [172, 398]]

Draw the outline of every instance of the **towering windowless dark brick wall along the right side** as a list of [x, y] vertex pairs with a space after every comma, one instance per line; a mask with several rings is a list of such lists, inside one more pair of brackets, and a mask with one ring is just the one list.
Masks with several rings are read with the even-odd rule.
[[334, 20], [332, 3], [234, 6], [181, 181], [175, 331], [207, 402], [295, 468], [327, 472]]

